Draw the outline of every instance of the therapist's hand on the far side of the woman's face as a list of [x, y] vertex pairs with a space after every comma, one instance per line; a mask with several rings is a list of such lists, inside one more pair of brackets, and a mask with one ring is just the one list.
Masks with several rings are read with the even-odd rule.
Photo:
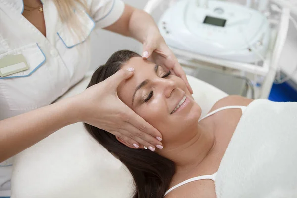
[[[160, 34], [150, 34], [150, 38], [146, 39], [143, 43], [143, 58], [150, 58], [152, 62], [164, 66], [165, 68], [173, 71], [173, 73], [183, 79], [191, 94], [193, 90], [188, 82], [186, 73], [182, 66], [179, 64], [177, 58], [166, 45], [163, 37]], [[156, 35], [156, 36], [154, 36]]]

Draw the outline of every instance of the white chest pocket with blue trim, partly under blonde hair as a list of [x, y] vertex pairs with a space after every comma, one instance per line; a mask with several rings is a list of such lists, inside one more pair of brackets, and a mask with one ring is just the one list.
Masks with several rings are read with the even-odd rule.
[[95, 27], [94, 20], [85, 11], [75, 12], [77, 17], [77, 24], [73, 27], [64, 24], [57, 32], [58, 36], [67, 48], [72, 48], [88, 39], [92, 30]]

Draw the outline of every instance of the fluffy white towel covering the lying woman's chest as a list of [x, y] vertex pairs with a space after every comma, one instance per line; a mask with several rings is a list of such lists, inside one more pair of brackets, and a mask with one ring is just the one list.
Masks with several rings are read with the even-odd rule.
[[217, 198], [297, 198], [297, 103], [253, 101], [215, 185]]

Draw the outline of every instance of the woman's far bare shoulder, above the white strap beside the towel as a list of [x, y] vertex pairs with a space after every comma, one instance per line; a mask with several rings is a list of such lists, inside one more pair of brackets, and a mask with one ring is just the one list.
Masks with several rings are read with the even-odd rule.
[[230, 95], [217, 101], [211, 108], [211, 111], [224, 106], [248, 106], [252, 101], [253, 99], [248, 99], [239, 95]]

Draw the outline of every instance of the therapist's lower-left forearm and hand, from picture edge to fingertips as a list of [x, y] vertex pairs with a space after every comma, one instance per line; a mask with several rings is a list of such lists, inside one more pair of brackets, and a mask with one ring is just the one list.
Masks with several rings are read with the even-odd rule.
[[139, 145], [139, 148], [162, 145], [161, 133], [117, 96], [116, 89], [119, 84], [133, 73], [119, 70], [81, 94], [1, 120], [0, 162], [29, 148], [58, 129], [76, 122], [85, 122], [108, 131], [131, 145]]

